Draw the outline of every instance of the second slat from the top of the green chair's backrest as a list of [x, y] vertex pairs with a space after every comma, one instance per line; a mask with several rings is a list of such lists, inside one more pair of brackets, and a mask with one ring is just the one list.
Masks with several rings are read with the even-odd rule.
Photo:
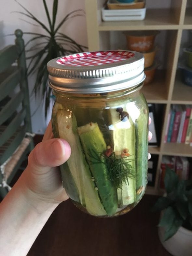
[[[1, 74], [2, 75], [2, 74]], [[2, 76], [0, 75], [0, 80]], [[4, 99], [14, 88], [18, 85], [21, 79], [20, 69], [16, 68], [13, 73], [4, 72], [4, 77], [6, 77], [2, 82], [0, 82], [0, 101]]]

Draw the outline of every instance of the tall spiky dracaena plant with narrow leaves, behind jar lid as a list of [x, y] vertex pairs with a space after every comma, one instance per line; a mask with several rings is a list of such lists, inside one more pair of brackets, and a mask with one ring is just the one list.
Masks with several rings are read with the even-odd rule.
[[45, 96], [46, 116], [51, 95], [51, 89], [48, 87], [47, 63], [49, 60], [57, 58], [59, 56], [85, 51], [87, 47], [78, 44], [71, 37], [60, 32], [62, 25], [66, 21], [78, 16], [84, 16], [85, 13], [82, 9], [71, 11], [65, 17], [63, 17], [63, 19], [56, 25], [58, 0], [52, 0], [52, 16], [48, 11], [46, 0], [42, 0], [45, 15], [48, 20], [48, 26], [46, 26], [43, 21], [37, 19], [30, 11], [28, 11], [23, 5], [21, 5], [21, 3], [19, 3], [17, 0], [15, 1], [24, 10], [24, 12], [17, 12], [20, 13], [22, 16], [27, 17], [27, 19], [29, 19], [30, 21], [34, 21], [36, 25], [40, 26], [45, 31], [45, 34], [34, 32], [24, 32], [24, 34], [32, 36], [32, 38], [30, 38], [25, 44], [25, 50], [29, 55], [26, 58], [29, 60], [29, 64], [27, 66], [27, 75], [36, 75], [33, 91], [35, 95], [37, 93], [41, 93], [43, 98]]

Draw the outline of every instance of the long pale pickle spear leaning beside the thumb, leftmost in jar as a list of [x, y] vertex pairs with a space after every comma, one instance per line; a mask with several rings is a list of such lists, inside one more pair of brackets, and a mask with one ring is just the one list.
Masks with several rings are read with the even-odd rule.
[[[92, 215], [106, 215], [98, 191], [94, 189], [94, 181], [91, 180], [89, 166], [82, 153], [75, 115], [73, 115], [71, 111], [59, 109], [57, 111], [57, 124], [60, 138], [65, 139], [71, 146], [71, 156], [67, 164], [75, 181], [80, 203], [86, 207], [86, 210]], [[63, 170], [63, 172], [65, 172], [65, 170]], [[65, 175], [63, 175], [63, 177], [65, 177]]]

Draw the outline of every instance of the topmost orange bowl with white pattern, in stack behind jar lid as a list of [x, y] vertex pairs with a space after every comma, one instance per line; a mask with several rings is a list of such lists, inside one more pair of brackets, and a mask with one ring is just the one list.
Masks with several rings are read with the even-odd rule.
[[150, 51], [159, 31], [130, 31], [126, 32], [127, 47], [132, 51]]

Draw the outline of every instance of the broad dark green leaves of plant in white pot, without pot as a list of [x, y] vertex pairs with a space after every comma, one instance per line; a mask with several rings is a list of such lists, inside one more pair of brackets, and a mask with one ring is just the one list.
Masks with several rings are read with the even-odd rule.
[[162, 211], [158, 226], [164, 227], [164, 241], [183, 226], [192, 230], [192, 180], [179, 180], [177, 174], [166, 168], [165, 196], [159, 197], [153, 210]]

